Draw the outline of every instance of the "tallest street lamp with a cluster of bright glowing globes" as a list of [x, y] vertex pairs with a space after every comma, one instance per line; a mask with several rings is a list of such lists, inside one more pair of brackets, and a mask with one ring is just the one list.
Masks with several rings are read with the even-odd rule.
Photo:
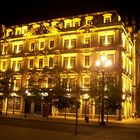
[[99, 60], [95, 63], [96, 67], [99, 68], [99, 71], [102, 74], [102, 86], [101, 86], [101, 122], [100, 125], [105, 125], [104, 122], [104, 74], [105, 69], [111, 66], [111, 60], [109, 60], [105, 55], [101, 55]]

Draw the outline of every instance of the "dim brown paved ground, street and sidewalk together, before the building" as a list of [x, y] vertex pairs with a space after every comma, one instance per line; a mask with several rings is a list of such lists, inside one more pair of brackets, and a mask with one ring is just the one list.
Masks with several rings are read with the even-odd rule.
[[0, 116], [0, 134], [4, 140], [138, 140], [140, 119], [110, 121], [106, 126], [97, 122], [78, 122], [78, 135], [75, 136], [74, 120], [42, 118], [20, 115]]

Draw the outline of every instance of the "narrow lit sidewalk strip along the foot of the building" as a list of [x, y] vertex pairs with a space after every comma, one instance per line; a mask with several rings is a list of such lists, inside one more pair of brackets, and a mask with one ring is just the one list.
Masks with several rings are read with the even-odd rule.
[[[7, 115], [5, 112], [0, 114], [1, 118], [7, 118], [7, 119], [25, 119], [25, 120], [38, 120], [38, 121], [50, 121], [50, 122], [61, 122], [61, 123], [75, 123], [76, 118], [75, 117], [66, 117], [64, 116], [49, 116], [43, 117], [42, 115], [38, 114], [27, 114], [26, 117], [24, 117], [24, 113], [15, 112], [14, 114], [12, 112], [8, 112]], [[117, 120], [108, 120], [108, 122], [105, 120], [106, 125], [140, 125], [140, 118], [133, 119], [123, 119], [121, 121]], [[89, 122], [85, 122], [84, 118], [78, 118], [78, 124], [82, 125], [99, 125], [98, 119], [89, 119]]]

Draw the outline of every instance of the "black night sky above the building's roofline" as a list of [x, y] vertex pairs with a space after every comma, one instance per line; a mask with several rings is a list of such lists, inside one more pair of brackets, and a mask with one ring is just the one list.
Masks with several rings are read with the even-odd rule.
[[125, 18], [140, 22], [138, 0], [11, 0], [2, 1], [0, 23], [7, 26], [58, 17], [117, 10]]

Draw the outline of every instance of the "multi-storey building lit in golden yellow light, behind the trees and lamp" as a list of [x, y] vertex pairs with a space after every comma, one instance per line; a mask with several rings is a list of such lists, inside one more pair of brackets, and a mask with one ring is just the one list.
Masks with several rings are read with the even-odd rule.
[[[114, 75], [123, 92], [122, 115], [127, 118], [136, 110], [136, 44], [133, 28], [127, 28], [115, 10], [3, 26], [2, 29], [0, 70], [10, 68], [16, 72], [16, 91], [28, 85], [29, 70], [36, 67], [41, 72], [45, 66], [51, 70], [57, 66], [61, 69], [60, 81], [68, 78], [71, 95], [78, 94], [81, 102], [79, 114], [82, 115], [83, 94], [90, 94], [92, 78], [96, 73], [95, 61], [99, 55], [106, 55], [112, 61], [108, 72]], [[79, 93], [73, 92], [76, 85], [80, 87]], [[48, 88], [48, 84], [45, 87]], [[20, 94], [16, 98], [16, 109], [22, 111], [23, 98]], [[5, 109], [6, 102], [3, 103]], [[94, 99], [89, 98], [86, 103], [86, 113], [94, 117]]]

